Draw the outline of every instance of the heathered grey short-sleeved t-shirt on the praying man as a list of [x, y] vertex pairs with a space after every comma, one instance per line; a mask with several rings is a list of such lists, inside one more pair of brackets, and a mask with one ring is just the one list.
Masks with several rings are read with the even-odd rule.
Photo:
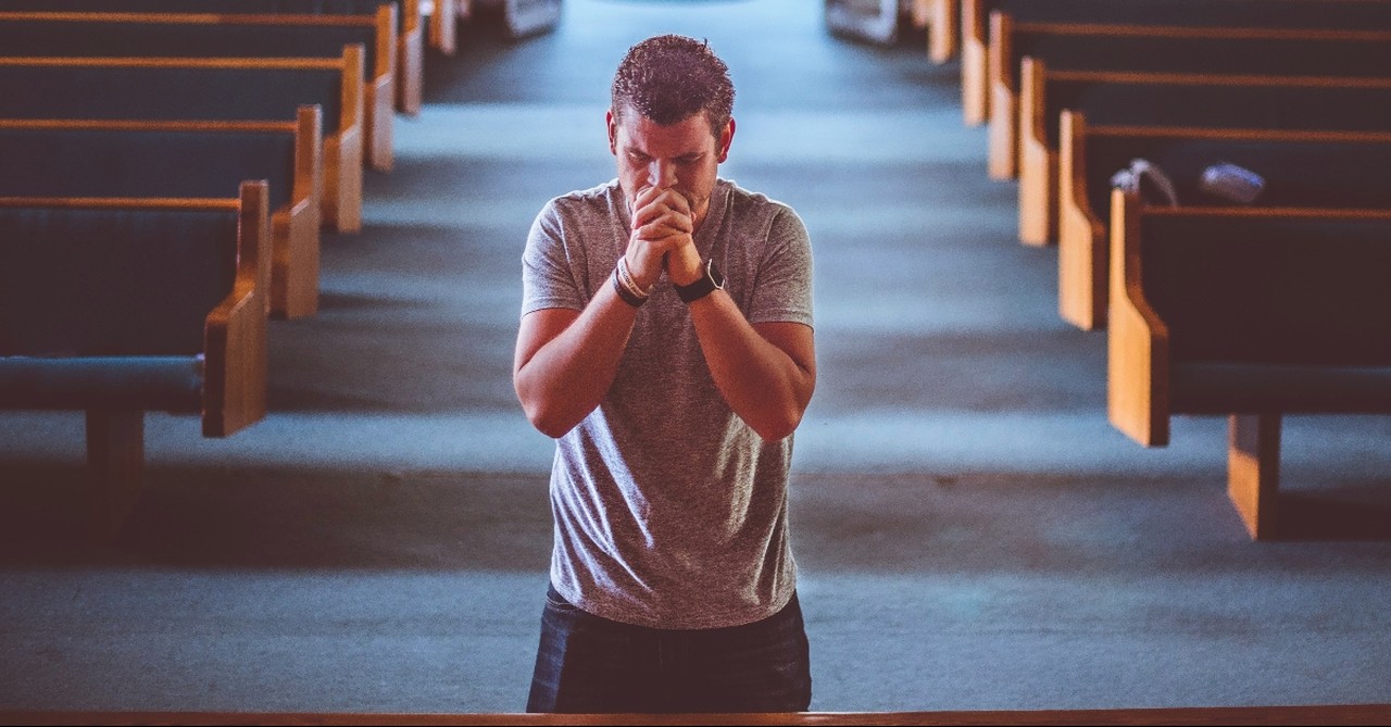
[[[618, 181], [537, 215], [522, 314], [583, 310], [629, 238]], [[811, 243], [786, 204], [719, 179], [696, 232], [750, 322], [811, 325]], [[690, 313], [664, 275], [608, 395], [556, 441], [551, 581], [580, 609], [654, 628], [772, 616], [796, 585], [787, 532], [791, 442], [764, 442], [725, 403]]]

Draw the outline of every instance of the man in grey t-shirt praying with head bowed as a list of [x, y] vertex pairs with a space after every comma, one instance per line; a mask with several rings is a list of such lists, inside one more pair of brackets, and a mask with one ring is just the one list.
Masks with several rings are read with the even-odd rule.
[[797, 214], [718, 177], [734, 89], [707, 43], [629, 49], [618, 178], [551, 200], [523, 254], [513, 384], [556, 438], [530, 712], [801, 712], [793, 431], [815, 388]]

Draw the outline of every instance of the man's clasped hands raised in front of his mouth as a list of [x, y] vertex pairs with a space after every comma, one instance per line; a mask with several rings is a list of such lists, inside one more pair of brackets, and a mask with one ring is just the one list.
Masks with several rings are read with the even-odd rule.
[[627, 270], [644, 291], [662, 271], [672, 282], [687, 285], [701, 275], [696, 250], [696, 215], [686, 195], [648, 186], [634, 195], [633, 231], [627, 238]]

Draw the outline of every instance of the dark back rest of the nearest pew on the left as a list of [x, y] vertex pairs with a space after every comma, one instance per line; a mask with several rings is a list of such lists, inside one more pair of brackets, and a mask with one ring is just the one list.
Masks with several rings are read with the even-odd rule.
[[0, 356], [198, 354], [236, 266], [235, 206], [0, 206]]

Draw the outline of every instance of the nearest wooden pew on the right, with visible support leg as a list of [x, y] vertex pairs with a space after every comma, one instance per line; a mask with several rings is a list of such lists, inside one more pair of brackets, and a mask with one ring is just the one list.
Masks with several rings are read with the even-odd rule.
[[1111, 202], [1107, 414], [1145, 446], [1230, 420], [1228, 495], [1278, 535], [1284, 414], [1391, 413], [1391, 210]]

